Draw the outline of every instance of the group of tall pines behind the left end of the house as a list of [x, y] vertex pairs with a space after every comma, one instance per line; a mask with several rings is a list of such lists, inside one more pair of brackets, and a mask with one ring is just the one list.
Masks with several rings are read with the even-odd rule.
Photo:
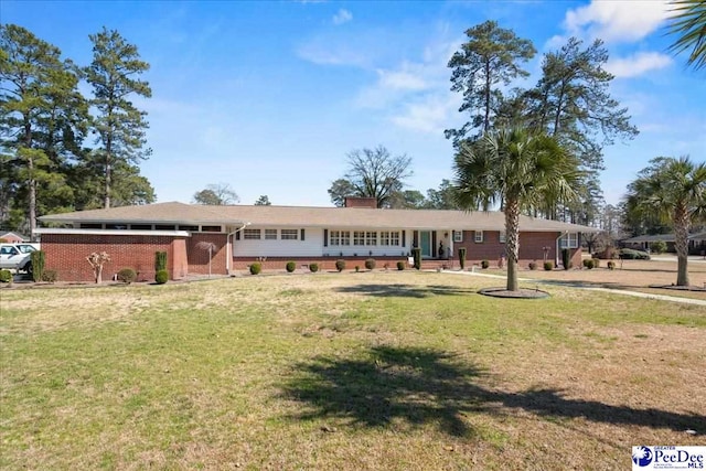
[[[146, 204], [140, 175], [149, 64], [117, 31], [89, 35], [93, 61], [75, 64], [15, 24], [0, 26], [0, 225], [33, 234], [49, 213]], [[79, 85], [90, 89], [84, 96]]]

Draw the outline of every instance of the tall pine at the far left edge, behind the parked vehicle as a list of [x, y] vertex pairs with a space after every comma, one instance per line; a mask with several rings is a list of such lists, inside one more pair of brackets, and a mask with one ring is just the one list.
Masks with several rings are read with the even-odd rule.
[[68, 192], [63, 167], [83, 140], [87, 108], [61, 51], [14, 24], [0, 26], [0, 136], [10, 167], [0, 174], [1, 193], [4, 204], [26, 202], [33, 235], [40, 191], [46, 206]]

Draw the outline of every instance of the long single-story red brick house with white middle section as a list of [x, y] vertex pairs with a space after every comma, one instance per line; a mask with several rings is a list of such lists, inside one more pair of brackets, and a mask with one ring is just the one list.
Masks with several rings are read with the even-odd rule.
[[[373, 257], [378, 267], [385, 263], [394, 267], [398, 260], [407, 261], [415, 246], [425, 260], [445, 264], [466, 247], [470, 266], [498, 260], [505, 243], [501, 212], [378, 210], [373, 199], [350, 199], [346, 207], [170, 202], [46, 215], [40, 221], [52, 226], [36, 229], [46, 268], [64, 281], [93, 279], [86, 261], [93, 251], [111, 257], [104, 278], [130, 267], [139, 279], [151, 280], [158, 250], [168, 253], [170, 278], [179, 279], [210, 269], [228, 275], [256, 260], [263, 269], [284, 269], [288, 260], [333, 269], [341, 258], [352, 268]], [[522, 216], [520, 231], [521, 263], [542, 261], [545, 253], [549, 260], [560, 259], [566, 247], [579, 266], [580, 234], [598, 229]]]

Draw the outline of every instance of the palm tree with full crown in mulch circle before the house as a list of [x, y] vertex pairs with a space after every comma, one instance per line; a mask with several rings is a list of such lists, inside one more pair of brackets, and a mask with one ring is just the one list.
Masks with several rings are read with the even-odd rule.
[[501, 129], [463, 143], [454, 162], [457, 202], [467, 211], [502, 202], [507, 290], [517, 291], [520, 214], [576, 197], [578, 161], [556, 139], [523, 128]]

